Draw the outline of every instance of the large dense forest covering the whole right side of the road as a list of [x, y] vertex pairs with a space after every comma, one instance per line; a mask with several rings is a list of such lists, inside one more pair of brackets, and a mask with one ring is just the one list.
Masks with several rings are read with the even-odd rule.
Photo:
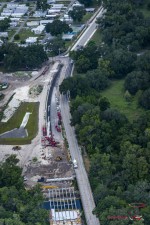
[[[149, 225], [150, 2], [105, 0], [103, 5], [107, 11], [97, 19], [101, 40], [70, 53], [74, 76], [60, 91], [70, 91], [71, 124], [90, 161], [93, 213], [102, 225]], [[103, 96], [119, 80], [127, 104], [136, 98], [141, 110], [132, 120]], [[136, 221], [136, 215], [142, 219]]]

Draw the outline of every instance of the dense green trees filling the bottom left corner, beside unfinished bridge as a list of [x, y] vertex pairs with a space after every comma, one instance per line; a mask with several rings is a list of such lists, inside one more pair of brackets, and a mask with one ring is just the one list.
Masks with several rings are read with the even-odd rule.
[[42, 208], [43, 195], [39, 186], [27, 190], [16, 155], [0, 165], [0, 224], [48, 225], [48, 210]]

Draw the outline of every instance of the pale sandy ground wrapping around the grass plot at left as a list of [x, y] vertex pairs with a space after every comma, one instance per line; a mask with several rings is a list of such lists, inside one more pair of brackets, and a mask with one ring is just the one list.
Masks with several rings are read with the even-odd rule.
[[[52, 79], [52, 76], [54, 74], [54, 71], [56, 71], [57, 66], [58, 66], [59, 62], [55, 62], [55, 64], [53, 64], [49, 71], [39, 77], [37, 80], [34, 80], [33, 78], [22, 82], [22, 81], [18, 81], [18, 80], [13, 80], [12, 76], [10, 81], [7, 77], [7, 81], [10, 82], [10, 86], [7, 90], [5, 90], [4, 94], [6, 94], [6, 98], [3, 100], [3, 102], [1, 102], [1, 106], [6, 104], [7, 100], [10, 98], [10, 96], [15, 92], [16, 95], [15, 97], [17, 99], [20, 99], [20, 101], [39, 101], [40, 102], [40, 108], [39, 108], [39, 131], [37, 136], [32, 140], [32, 143], [30, 145], [22, 145], [21, 146], [21, 150], [20, 151], [14, 151], [12, 150], [12, 145], [0, 145], [0, 161], [3, 161], [8, 155], [10, 154], [16, 154], [17, 157], [20, 159], [20, 166], [23, 167], [23, 171], [26, 170], [26, 168], [28, 167], [28, 165], [30, 164], [31, 160], [34, 157], [37, 157], [38, 161], [41, 162], [41, 164], [46, 164], [46, 160], [42, 159], [42, 147], [41, 147], [41, 128], [42, 125], [45, 123], [45, 119], [44, 119], [44, 112], [45, 112], [45, 101], [44, 99], [46, 99], [46, 95], [47, 95], [47, 87], [48, 87], [48, 83], [49, 81]], [[39, 71], [39, 73], [41, 73], [41, 71]], [[38, 76], [39, 73], [35, 75]], [[14, 78], [15, 79], [15, 78]], [[3, 79], [1, 79], [3, 80]], [[6, 79], [5, 79], [6, 81]], [[37, 84], [41, 84], [43, 85], [43, 91], [42, 93], [33, 98], [30, 98], [28, 95], [28, 91], [29, 88], [31, 88], [34, 85]]]

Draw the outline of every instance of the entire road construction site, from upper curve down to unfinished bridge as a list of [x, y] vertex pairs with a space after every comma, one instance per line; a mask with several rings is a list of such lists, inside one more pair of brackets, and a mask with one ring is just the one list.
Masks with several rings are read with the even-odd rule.
[[[68, 71], [68, 66], [64, 66], [66, 63], [68, 59], [49, 62], [41, 71], [34, 72], [32, 81], [27, 79], [21, 87], [21, 81], [16, 79], [15, 75], [8, 74], [9, 86], [4, 92], [7, 92], [8, 96], [13, 94], [13, 97], [4, 111], [3, 120], [7, 123], [10, 117], [15, 117], [20, 107], [24, 104], [26, 107], [20, 126], [13, 124], [11, 130], [0, 134], [2, 144], [5, 140], [10, 141], [10, 145], [1, 145], [0, 148], [1, 159], [8, 154], [16, 154], [20, 159], [27, 188], [37, 183], [41, 185], [45, 198], [44, 207], [50, 211], [50, 224], [80, 225], [82, 206], [75, 176], [78, 166], [68, 150], [58, 88], [59, 82]], [[70, 63], [70, 71], [71, 68]], [[37, 92], [39, 87], [40, 93]], [[27, 145], [22, 145], [23, 142], [20, 145], [17, 142], [16, 145], [12, 145], [13, 138], [25, 140], [29, 137], [27, 124], [32, 112], [28, 104], [38, 104], [38, 134]]]

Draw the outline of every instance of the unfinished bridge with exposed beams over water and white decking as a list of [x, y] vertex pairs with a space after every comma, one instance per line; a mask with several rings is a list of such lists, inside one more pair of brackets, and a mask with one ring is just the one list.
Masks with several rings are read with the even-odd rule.
[[50, 225], [81, 225], [73, 187], [49, 189]]

